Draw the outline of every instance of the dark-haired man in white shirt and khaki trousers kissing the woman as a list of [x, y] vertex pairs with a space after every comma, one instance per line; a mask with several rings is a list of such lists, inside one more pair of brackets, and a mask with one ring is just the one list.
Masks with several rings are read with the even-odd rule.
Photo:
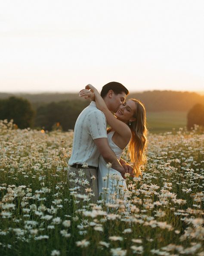
[[[128, 93], [127, 88], [121, 83], [110, 82], [102, 87], [101, 96], [108, 109], [117, 112], [118, 107], [124, 103]], [[79, 187], [80, 193], [85, 192], [84, 187], [87, 184], [81, 184], [78, 180], [81, 178], [87, 179], [88, 185], [94, 192], [93, 202], [98, 200], [97, 168], [100, 154], [106, 163], [111, 163], [111, 167], [124, 176], [128, 169], [125, 166], [126, 162], [121, 159], [120, 163], [109, 147], [105, 115], [96, 108], [96, 102], [92, 101], [80, 113], [74, 127], [72, 154], [68, 161], [68, 179], [71, 186]], [[87, 163], [88, 166], [84, 163]], [[129, 166], [129, 168], [131, 167]], [[74, 176], [73, 173], [75, 173]], [[83, 173], [84, 177], [82, 177]], [[77, 181], [77, 184], [73, 182], [73, 179]]]

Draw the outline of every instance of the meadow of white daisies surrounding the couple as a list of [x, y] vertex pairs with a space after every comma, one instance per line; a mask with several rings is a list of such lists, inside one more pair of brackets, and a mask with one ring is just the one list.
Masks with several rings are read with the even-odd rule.
[[[204, 134], [197, 127], [149, 133], [142, 177], [127, 176], [126, 190], [116, 180], [121, 197], [97, 204], [90, 190], [69, 188], [72, 137], [0, 121], [0, 255], [204, 256]], [[127, 152], [123, 158], [129, 161]], [[85, 182], [83, 172], [75, 182]]]

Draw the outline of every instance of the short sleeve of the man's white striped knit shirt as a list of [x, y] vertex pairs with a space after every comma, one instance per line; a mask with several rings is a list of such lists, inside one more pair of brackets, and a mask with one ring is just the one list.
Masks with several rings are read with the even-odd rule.
[[95, 139], [107, 138], [106, 119], [100, 110], [92, 111], [87, 116], [90, 135]]

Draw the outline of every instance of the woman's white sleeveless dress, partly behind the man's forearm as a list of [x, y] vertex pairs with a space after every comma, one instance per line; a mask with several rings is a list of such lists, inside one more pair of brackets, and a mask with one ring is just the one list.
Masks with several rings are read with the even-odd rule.
[[[114, 131], [108, 133], [108, 144], [114, 151], [118, 160], [124, 150], [118, 147], [112, 141]], [[99, 157], [99, 170], [98, 170], [98, 188], [99, 198], [111, 201], [111, 199], [124, 198], [124, 189], [127, 189], [125, 179], [117, 170], [107, 167], [107, 163], [102, 156]]]

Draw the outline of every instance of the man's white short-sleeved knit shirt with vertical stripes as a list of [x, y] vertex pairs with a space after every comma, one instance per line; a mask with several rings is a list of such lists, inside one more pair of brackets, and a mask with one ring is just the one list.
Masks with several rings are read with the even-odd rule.
[[107, 138], [106, 118], [92, 101], [80, 113], [74, 126], [74, 138], [69, 165], [87, 163], [98, 167], [99, 150], [93, 140]]

